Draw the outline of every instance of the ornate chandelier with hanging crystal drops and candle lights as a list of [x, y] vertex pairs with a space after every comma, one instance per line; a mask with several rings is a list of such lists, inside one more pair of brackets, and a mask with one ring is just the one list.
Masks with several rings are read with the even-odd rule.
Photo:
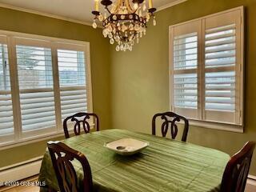
[[134, 42], [139, 42], [139, 38], [146, 35], [146, 24], [153, 17], [153, 25], [156, 25], [152, 0], [102, 0], [105, 6], [104, 13], [99, 11], [99, 0], [95, 1], [94, 29], [97, 28], [96, 20], [102, 22], [102, 34], [105, 38], [110, 38], [110, 44], [116, 43], [116, 50], [132, 50]]

